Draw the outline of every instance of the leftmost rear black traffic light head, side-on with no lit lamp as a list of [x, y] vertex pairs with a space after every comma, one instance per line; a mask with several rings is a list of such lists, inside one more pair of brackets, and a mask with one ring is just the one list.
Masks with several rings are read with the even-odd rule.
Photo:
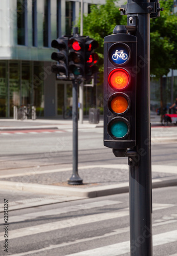
[[60, 37], [52, 41], [51, 46], [58, 49], [58, 52], [53, 52], [51, 58], [57, 61], [57, 64], [52, 65], [52, 72], [60, 76], [68, 78], [68, 37]]

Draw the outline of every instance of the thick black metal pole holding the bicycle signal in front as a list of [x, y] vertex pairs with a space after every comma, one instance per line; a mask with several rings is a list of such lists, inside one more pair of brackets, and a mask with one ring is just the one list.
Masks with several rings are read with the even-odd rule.
[[[147, 3], [149, 1], [139, 1]], [[128, 3], [134, 3], [128, 0]], [[130, 15], [129, 15], [130, 16]], [[127, 17], [129, 18], [129, 17]], [[152, 256], [150, 14], [137, 14], [137, 156], [129, 157], [130, 255]]]

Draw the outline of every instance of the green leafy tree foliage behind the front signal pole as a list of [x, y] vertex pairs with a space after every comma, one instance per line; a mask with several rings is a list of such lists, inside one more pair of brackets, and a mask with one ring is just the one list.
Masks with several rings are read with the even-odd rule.
[[[150, 20], [150, 73], [157, 79], [177, 69], [177, 16], [172, 13], [173, 0], [160, 1], [161, 16]], [[92, 5], [91, 13], [83, 17], [83, 34], [99, 42], [100, 72], [103, 72], [104, 37], [112, 34], [116, 25], [126, 25], [120, 15], [119, 2], [106, 0], [105, 5]], [[79, 26], [79, 24], [78, 24]]]

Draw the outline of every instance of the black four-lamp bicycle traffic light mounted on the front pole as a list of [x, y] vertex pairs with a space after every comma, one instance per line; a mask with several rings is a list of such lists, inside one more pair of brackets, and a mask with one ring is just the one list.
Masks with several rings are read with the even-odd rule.
[[136, 63], [137, 37], [125, 26], [104, 37], [104, 145], [115, 150], [136, 145]]

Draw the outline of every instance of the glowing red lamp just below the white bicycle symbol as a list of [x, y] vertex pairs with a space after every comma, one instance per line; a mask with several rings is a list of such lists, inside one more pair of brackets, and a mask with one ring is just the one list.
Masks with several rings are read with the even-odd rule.
[[108, 75], [108, 83], [114, 89], [122, 90], [129, 84], [129, 74], [124, 69], [113, 69]]

